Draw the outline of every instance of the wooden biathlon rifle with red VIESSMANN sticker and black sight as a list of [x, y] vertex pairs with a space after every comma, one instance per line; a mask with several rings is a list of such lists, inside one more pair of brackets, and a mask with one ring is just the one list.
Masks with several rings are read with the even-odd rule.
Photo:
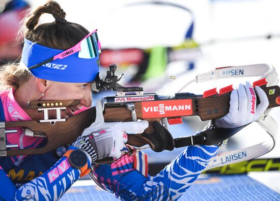
[[[220, 118], [229, 112], [232, 85], [205, 91], [201, 95], [193, 93], [175, 93], [173, 96], [144, 93], [141, 87], [123, 87], [115, 75], [117, 65], [110, 65], [103, 80], [97, 79], [97, 88], [117, 91], [117, 95], [102, 98], [103, 115], [106, 122], [137, 121], [145, 119], [149, 127], [143, 133], [128, 134], [126, 144], [142, 147], [149, 145], [152, 150], [160, 152], [173, 150], [174, 147], [189, 145], [213, 145], [228, 139], [242, 127], [237, 129], [217, 128], [206, 130], [199, 135], [173, 139], [166, 131], [167, 123], [183, 123], [182, 117], [197, 115], [202, 121]], [[266, 87], [266, 80], [254, 82], [261, 86], [269, 100], [268, 108], [280, 106], [279, 86]], [[75, 107], [79, 100], [72, 101], [35, 101], [27, 104], [28, 109], [43, 112], [44, 119], [31, 121], [15, 121], [0, 123], [0, 156], [43, 154], [65, 144], [72, 144], [82, 131], [95, 121], [95, 107], [80, 112], [68, 119], [61, 118], [61, 111], [66, 107]], [[258, 102], [257, 102], [258, 104]], [[56, 111], [57, 118], [49, 119], [48, 112]], [[158, 124], [161, 124], [159, 127]], [[156, 125], [157, 124], [157, 125]], [[41, 148], [19, 149], [19, 145], [7, 145], [6, 136], [16, 132], [15, 127], [25, 129], [25, 135], [46, 138]]]

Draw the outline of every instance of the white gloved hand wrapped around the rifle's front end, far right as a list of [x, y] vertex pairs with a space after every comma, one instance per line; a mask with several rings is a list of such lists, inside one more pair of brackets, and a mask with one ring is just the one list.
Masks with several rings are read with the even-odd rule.
[[[256, 93], [260, 99], [257, 106]], [[215, 119], [214, 124], [219, 128], [236, 128], [256, 121], [267, 109], [268, 98], [261, 87], [255, 90], [249, 82], [239, 84], [231, 92], [230, 111], [220, 119]]]

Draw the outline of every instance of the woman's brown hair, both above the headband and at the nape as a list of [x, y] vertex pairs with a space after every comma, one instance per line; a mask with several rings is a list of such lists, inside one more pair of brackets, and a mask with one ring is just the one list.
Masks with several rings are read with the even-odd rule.
[[[51, 14], [55, 21], [37, 25], [44, 13]], [[48, 1], [25, 18], [21, 32], [27, 40], [34, 43], [54, 49], [69, 49], [87, 36], [89, 31], [79, 24], [66, 21], [65, 16], [66, 13], [57, 2]], [[0, 90], [18, 88], [22, 82], [29, 80], [30, 76], [31, 73], [19, 64], [5, 65], [0, 72]]]

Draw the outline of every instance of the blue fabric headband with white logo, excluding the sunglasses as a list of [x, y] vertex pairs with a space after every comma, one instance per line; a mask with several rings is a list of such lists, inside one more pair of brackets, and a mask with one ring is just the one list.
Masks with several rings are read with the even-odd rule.
[[[64, 50], [52, 49], [24, 39], [21, 62], [27, 68], [47, 60]], [[78, 52], [63, 59], [55, 59], [31, 70], [41, 79], [57, 82], [92, 82], [99, 72], [99, 57], [79, 58]]]

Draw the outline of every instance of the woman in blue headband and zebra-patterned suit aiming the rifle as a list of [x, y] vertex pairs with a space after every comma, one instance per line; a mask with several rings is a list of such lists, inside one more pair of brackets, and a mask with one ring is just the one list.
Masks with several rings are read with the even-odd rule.
[[[44, 13], [51, 14], [55, 21], [38, 25]], [[79, 105], [68, 107], [62, 112], [62, 118], [91, 107], [91, 85], [99, 71], [100, 42], [96, 30], [89, 32], [79, 24], [68, 22], [65, 16], [58, 3], [49, 1], [26, 18], [21, 61], [3, 66], [0, 74], [2, 121], [43, 119], [36, 109], [26, 108], [31, 101], [79, 99]], [[266, 110], [268, 99], [256, 87], [260, 104], [251, 113], [253, 94], [249, 88], [253, 87], [248, 82], [239, 84], [231, 93], [229, 113], [211, 121], [205, 129], [239, 127], [257, 120]], [[176, 200], [198, 178], [219, 148], [218, 145], [186, 147], [159, 174], [150, 177], [144, 153], [121, 157], [126, 150], [124, 131], [144, 130], [148, 122], [104, 123], [100, 102], [96, 110], [96, 121], [70, 147], [60, 147], [55, 154], [50, 151], [0, 157], [0, 198], [57, 200], [93, 167], [99, 186], [120, 199]], [[55, 118], [54, 114], [50, 113], [49, 118]], [[17, 128], [17, 133], [7, 135], [7, 144], [28, 149], [41, 147], [44, 141], [26, 136], [23, 129]], [[94, 163], [108, 156], [119, 160], [111, 165]]]

